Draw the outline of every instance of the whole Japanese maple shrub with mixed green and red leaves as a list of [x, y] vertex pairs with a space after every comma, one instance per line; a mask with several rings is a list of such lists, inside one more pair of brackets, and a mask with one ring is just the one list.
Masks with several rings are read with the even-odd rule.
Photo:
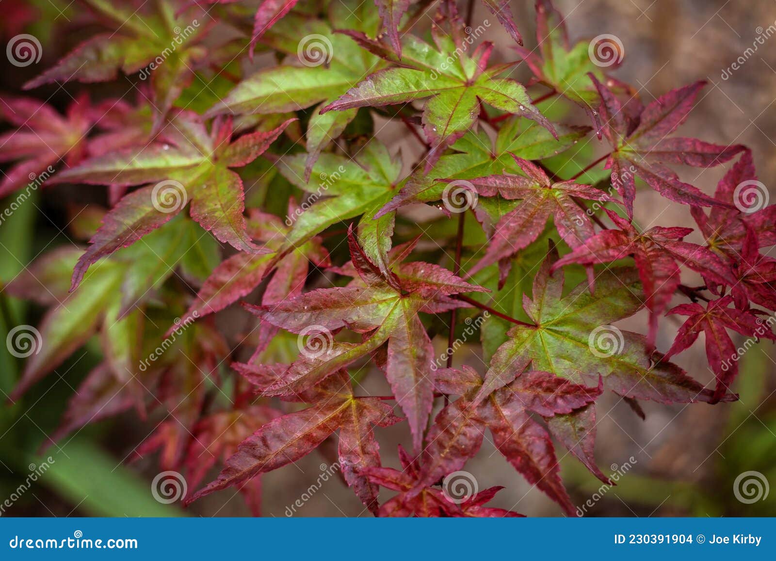
[[[550, 0], [532, 49], [508, 2], [483, 3], [511, 42], [501, 61], [490, 22], [450, 0], [77, 2], [78, 25], [102, 30], [25, 86], [79, 92], [65, 113], [0, 99], [0, 195], [41, 174], [105, 187], [71, 217], [88, 244], [3, 288], [48, 306], [12, 400], [96, 336], [102, 362], [52, 438], [157, 415], [137, 455], [185, 474], [187, 503], [235, 486], [256, 514], [262, 473], [334, 439], [373, 514], [457, 517], [516, 515], [485, 506], [501, 487], [442, 484], [485, 438], [573, 515], [553, 440], [608, 483], [603, 393], [637, 411], [736, 400], [731, 333], [776, 338], [776, 261], [760, 252], [776, 210], [753, 197], [750, 151], [677, 136], [704, 82], [645, 105], [605, 74], [622, 51], [572, 43]], [[98, 101], [95, 82], [114, 88]], [[383, 144], [385, 126], [417, 157]], [[673, 169], [728, 162], [713, 196]], [[637, 224], [642, 189], [688, 208], [705, 243]], [[614, 327], [635, 314], [643, 333]], [[686, 317], [673, 345], [671, 314]], [[482, 344], [465, 355], [471, 324]], [[670, 362], [701, 332], [708, 389]], [[376, 431], [394, 424], [407, 445], [383, 466]]]

